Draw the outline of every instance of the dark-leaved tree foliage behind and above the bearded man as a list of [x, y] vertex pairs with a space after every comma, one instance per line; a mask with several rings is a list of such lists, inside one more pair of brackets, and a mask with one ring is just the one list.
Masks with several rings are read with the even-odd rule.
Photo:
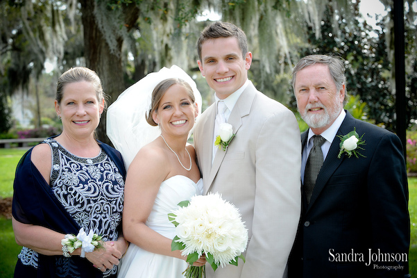
[[[348, 22], [341, 10], [335, 10], [332, 2], [325, 9], [321, 35], [319, 38], [311, 27], [307, 26], [306, 34], [309, 44], [300, 49], [300, 56], [309, 54], [339, 54], [346, 59], [346, 90], [349, 95], [359, 96], [366, 102], [367, 118], [375, 124], [395, 131], [395, 81], [391, 78], [393, 61], [388, 50], [387, 28], [384, 22], [379, 23], [382, 31], [372, 30], [371, 26], [359, 22], [359, 3], [353, 4], [357, 16]], [[332, 19], [337, 15], [339, 29], [334, 28]], [[408, 40], [415, 44], [415, 26], [408, 25]], [[411, 30], [410, 30], [411, 29]], [[373, 32], [375, 36], [369, 34]], [[414, 35], [414, 38], [413, 38]], [[414, 48], [415, 49], [415, 48]], [[411, 54], [410, 63], [415, 65], [415, 55]], [[407, 99], [409, 115], [407, 124], [416, 119], [416, 76], [414, 69], [409, 67], [407, 82]], [[413, 89], [414, 86], [414, 89]], [[414, 92], [413, 92], [414, 90]], [[414, 99], [414, 100], [413, 100]], [[292, 105], [295, 106], [293, 99]], [[414, 107], [414, 108], [413, 108]]]

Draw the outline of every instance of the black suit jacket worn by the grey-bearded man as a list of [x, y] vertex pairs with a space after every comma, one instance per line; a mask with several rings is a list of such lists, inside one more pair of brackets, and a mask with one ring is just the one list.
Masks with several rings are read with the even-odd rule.
[[[339, 154], [356, 129], [365, 157]], [[302, 134], [303, 148], [308, 131]], [[403, 277], [408, 273], [408, 184], [395, 134], [347, 113], [318, 174], [310, 204], [303, 195], [289, 277]], [[371, 252], [371, 256], [370, 256]], [[388, 254], [388, 255], [386, 255]], [[388, 270], [397, 267], [399, 270]]]

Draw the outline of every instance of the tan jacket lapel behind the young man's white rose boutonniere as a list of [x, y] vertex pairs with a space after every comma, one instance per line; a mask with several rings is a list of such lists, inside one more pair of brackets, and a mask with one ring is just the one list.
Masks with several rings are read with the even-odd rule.
[[[252, 83], [248, 85], [248, 87], [244, 90], [244, 92], [241, 93], [241, 96], [239, 99], [237, 99], [237, 102], [235, 104], [235, 107], [233, 108], [232, 112], [230, 113], [230, 117], [228, 120], [228, 123], [233, 126], [233, 133], [236, 134], [236, 136], [239, 136], [239, 129], [242, 124], [242, 118], [246, 115], [249, 115], [250, 108], [252, 107], [253, 101], [255, 99], [256, 95], [256, 88], [253, 86]], [[215, 117], [215, 115], [214, 115]], [[213, 122], [211, 126], [214, 126], [214, 117]], [[214, 130], [214, 129], [212, 129]], [[211, 132], [213, 136], [213, 132]], [[212, 137], [213, 138], [213, 137]], [[212, 147], [213, 143], [211, 142], [210, 146]], [[230, 144], [230, 147], [233, 146], [233, 143]], [[223, 149], [218, 149], [216, 152], [216, 156], [214, 157], [213, 165], [210, 170], [210, 174], [208, 179], [205, 180], [205, 194], [210, 190], [212, 187], [212, 183], [214, 181], [214, 178], [216, 177], [217, 172], [219, 172], [219, 168], [221, 166], [221, 163], [223, 162], [223, 159], [227, 152], [229, 151], [230, 147], [228, 147], [225, 151]], [[205, 153], [206, 154], [206, 153]], [[212, 157], [211, 155], [208, 155], [207, 157]], [[206, 187], [207, 184], [207, 187]]]

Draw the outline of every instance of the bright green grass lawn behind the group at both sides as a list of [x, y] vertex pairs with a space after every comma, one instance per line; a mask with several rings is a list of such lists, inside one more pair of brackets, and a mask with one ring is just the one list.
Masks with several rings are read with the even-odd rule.
[[[25, 149], [0, 149], [0, 197], [12, 196], [15, 169]], [[417, 275], [417, 177], [409, 178], [409, 213], [411, 246], [409, 252], [410, 273]], [[0, 217], [0, 277], [13, 277], [20, 247], [15, 243], [12, 221]]]

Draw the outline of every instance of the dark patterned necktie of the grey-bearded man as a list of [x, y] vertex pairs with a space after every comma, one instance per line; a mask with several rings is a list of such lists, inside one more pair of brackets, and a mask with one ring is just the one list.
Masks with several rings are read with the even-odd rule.
[[313, 136], [313, 140], [313, 147], [307, 158], [304, 173], [304, 193], [307, 197], [308, 204], [310, 203], [310, 199], [313, 195], [318, 172], [320, 172], [321, 166], [323, 165], [323, 152], [321, 152], [321, 145], [324, 144], [325, 138], [315, 135]]

